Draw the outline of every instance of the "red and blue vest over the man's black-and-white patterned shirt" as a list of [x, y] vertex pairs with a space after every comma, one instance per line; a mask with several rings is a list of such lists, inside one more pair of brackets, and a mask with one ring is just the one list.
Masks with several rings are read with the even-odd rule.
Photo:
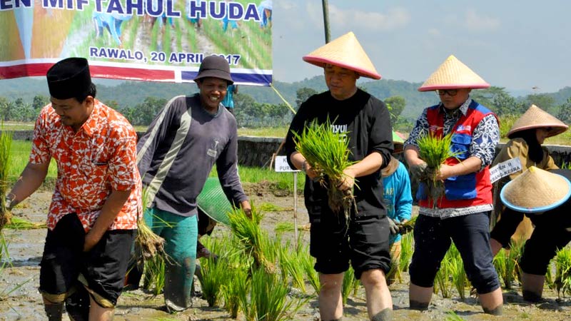
[[[447, 165], [455, 165], [470, 158], [470, 143], [476, 126], [487, 115], [494, 115], [492, 111], [472, 101], [466, 114], [462, 115], [452, 128], [452, 144], [450, 150], [458, 156], [448, 158]], [[427, 111], [428, 126], [431, 134], [437, 137], [444, 135], [444, 118], [440, 115], [440, 105], [432, 106]], [[423, 197], [423, 184], [419, 186], [417, 194], [418, 205], [433, 208], [432, 200]], [[477, 173], [453, 176], [444, 181], [445, 194], [439, 198], [438, 208], [466, 208], [475, 205], [492, 204], [492, 183], [490, 182], [490, 169], [486, 166]], [[420, 196], [420, 197], [419, 197]]]

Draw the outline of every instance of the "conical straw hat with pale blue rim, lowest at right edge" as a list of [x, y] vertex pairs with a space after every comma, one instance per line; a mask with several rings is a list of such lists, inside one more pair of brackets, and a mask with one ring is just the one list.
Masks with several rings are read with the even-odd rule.
[[508, 208], [522, 213], [540, 213], [565, 203], [571, 183], [562, 175], [532, 166], [507, 183], [500, 198]]

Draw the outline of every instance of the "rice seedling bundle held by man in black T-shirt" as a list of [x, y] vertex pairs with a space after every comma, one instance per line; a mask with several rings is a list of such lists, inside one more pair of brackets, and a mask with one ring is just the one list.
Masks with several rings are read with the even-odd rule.
[[353, 190], [339, 190], [343, 170], [356, 162], [349, 161], [350, 151], [345, 133], [333, 133], [329, 119], [325, 123], [311, 122], [299, 135], [293, 133], [295, 149], [305, 157], [319, 181], [328, 190], [329, 207], [333, 213], [343, 213], [348, 220], [355, 205]]

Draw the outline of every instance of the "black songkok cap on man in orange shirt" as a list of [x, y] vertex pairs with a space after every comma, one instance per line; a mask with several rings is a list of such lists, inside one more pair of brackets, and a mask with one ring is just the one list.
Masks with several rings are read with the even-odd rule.
[[91, 74], [86, 58], [66, 58], [49, 68], [49, 94], [56, 99], [81, 97], [89, 93]]

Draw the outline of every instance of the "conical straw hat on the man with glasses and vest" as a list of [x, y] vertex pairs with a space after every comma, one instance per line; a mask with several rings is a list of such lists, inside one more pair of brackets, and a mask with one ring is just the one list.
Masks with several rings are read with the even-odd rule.
[[490, 84], [477, 76], [462, 61], [450, 55], [430, 77], [418, 88], [418, 91], [435, 91], [436, 89], [488, 88]]

